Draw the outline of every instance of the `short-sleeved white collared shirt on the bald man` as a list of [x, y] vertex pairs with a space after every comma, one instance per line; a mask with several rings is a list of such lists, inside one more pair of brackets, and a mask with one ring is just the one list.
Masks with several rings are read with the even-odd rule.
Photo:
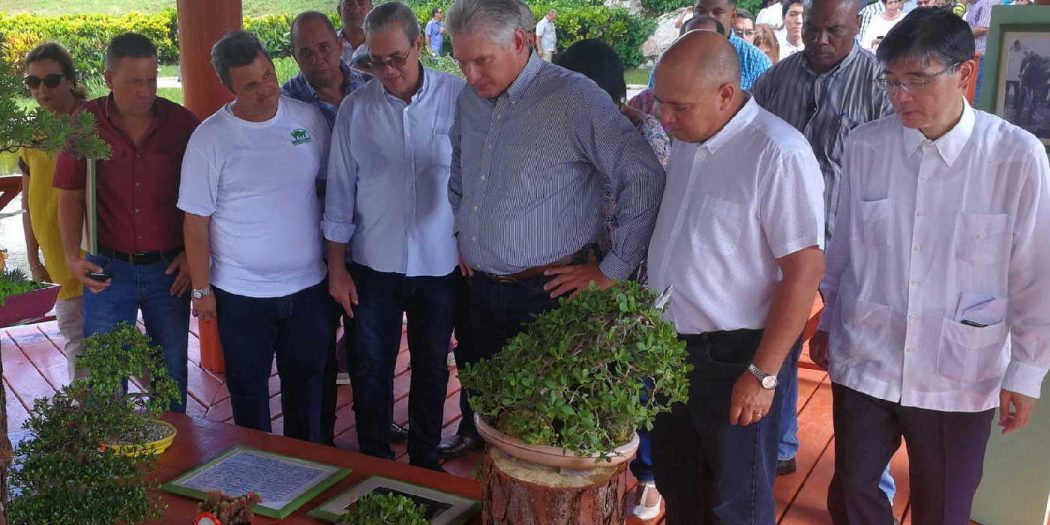
[[682, 334], [765, 328], [777, 259], [823, 247], [824, 182], [795, 128], [748, 103], [702, 144], [676, 142], [649, 245], [649, 287]]

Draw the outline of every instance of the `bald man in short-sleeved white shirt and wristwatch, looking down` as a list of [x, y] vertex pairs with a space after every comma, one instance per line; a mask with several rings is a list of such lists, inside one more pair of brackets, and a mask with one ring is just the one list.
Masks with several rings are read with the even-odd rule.
[[785, 357], [823, 272], [823, 175], [805, 138], [740, 89], [733, 46], [678, 39], [656, 66], [676, 139], [649, 246], [649, 286], [687, 341], [688, 404], [657, 417], [667, 523], [775, 523]]

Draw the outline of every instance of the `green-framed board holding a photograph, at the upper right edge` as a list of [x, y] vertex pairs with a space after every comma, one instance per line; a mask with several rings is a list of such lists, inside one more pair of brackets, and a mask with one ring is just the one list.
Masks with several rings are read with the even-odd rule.
[[976, 107], [1043, 141], [1050, 151], [1050, 6], [996, 5]]

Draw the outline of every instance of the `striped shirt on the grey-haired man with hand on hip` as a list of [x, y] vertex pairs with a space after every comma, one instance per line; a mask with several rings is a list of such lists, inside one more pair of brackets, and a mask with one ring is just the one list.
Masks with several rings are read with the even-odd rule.
[[664, 169], [645, 138], [582, 75], [536, 55], [500, 97], [467, 86], [457, 101], [448, 198], [466, 262], [512, 274], [598, 238], [603, 185], [616, 228], [602, 272], [624, 279], [645, 257]]

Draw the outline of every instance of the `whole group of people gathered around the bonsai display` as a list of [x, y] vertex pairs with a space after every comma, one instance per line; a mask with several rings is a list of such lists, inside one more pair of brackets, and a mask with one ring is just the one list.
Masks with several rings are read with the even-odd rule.
[[[404, 4], [342, 0], [341, 27], [294, 19], [282, 86], [257, 37], [223, 37], [233, 101], [203, 122], [156, 97], [143, 36], [109, 43], [92, 101], [42, 44], [27, 88], [92, 114], [112, 154], [91, 178], [70, 153], [20, 151], [30, 269], [62, 285], [70, 376], [83, 337], [141, 311], [185, 411], [192, 312], [218, 320], [237, 425], [272, 429], [276, 359], [284, 433], [332, 444], [345, 353], [360, 452], [406, 439], [434, 470], [482, 446], [469, 392], [441, 440], [449, 349], [456, 366], [490, 358], [590, 286], [673, 287], [690, 400], [639, 430], [630, 501], [672, 525], [776, 521], [819, 289], [833, 522], [894, 521], [903, 439], [912, 521], [967, 523], [995, 408], [1025, 426], [1050, 370], [1050, 164], [964, 97], [992, 2], [698, 0], [628, 101], [608, 44], [559, 49], [555, 10], [456, 0], [421, 27]], [[463, 79], [420, 62], [449, 48]]]

